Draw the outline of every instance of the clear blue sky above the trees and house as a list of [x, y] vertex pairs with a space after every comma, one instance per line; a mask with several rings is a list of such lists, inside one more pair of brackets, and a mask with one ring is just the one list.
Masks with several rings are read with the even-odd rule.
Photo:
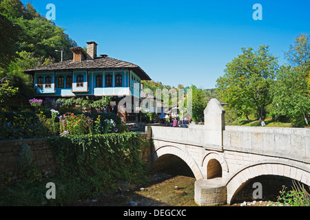
[[[23, 0], [28, 3], [28, 0]], [[156, 82], [210, 89], [241, 47], [269, 44], [279, 63], [298, 34], [310, 34], [310, 1], [32, 0], [79, 46], [139, 65]], [[262, 5], [262, 21], [252, 9]]]

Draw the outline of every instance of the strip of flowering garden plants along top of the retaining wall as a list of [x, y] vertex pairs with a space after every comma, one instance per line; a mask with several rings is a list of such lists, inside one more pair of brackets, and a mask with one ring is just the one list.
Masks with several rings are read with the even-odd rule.
[[51, 109], [37, 111], [0, 111], [0, 140], [66, 135], [98, 135], [128, 131], [121, 119], [111, 113], [59, 115]]

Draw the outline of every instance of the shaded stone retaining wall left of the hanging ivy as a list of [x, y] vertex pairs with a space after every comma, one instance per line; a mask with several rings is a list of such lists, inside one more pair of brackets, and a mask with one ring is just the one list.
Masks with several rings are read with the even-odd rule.
[[[22, 179], [25, 174], [19, 172], [22, 144], [28, 144], [32, 151], [32, 159], [42, 175], [50, 175], [56, 170], [56, 159], [44, 139], [0, 141], [0, 175], [14, 179]], [[1, 178], [2, 179], [2, 178]], [[0, 179], [0, 181], [1, 181]], [[2, 179], [2, 181], [4, 181]]]

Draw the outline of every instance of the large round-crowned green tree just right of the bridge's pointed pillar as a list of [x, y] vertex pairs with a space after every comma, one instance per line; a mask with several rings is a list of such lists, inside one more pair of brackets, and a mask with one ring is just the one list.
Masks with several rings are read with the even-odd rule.
[[265, 126], [265, 107], [271, 104], [271, 85], [276, 76], [278, 61], [268, 45], [254, 51], [241, 48], [242, 54], [227, 63], [225, 74], [216, 80], [218, 96], [234, 108], [238, 115], [255, 113]]

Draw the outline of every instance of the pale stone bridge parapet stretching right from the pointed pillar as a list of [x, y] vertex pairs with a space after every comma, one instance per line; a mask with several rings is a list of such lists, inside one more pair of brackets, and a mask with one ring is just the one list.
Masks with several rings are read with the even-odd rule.
[[223, 149], [310, 163], [310, 129], [225, 126]]

